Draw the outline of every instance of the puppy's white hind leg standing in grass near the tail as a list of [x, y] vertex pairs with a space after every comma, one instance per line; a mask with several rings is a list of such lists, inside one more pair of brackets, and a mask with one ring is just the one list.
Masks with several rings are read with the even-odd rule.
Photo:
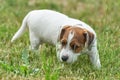
[[40, 38], [32, 31], [30, 31], [30, 49], [37, 50], [40, 45]]

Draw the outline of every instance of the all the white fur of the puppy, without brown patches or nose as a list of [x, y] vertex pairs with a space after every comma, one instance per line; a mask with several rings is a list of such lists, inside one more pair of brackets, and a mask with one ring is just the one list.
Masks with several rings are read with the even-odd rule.
[[76, 61], [78, 56], [69, 48], [69, 43], [73, 35], [71, 33], [69, 34], [67, 47], [63, 48], [62, 50], [61, 44], [58, 41], [60, 31], [64, 25], [77, 25], [78, 27], [85, 28], [94, 34], [94, 40], [92, 42], [91, 49], [85, 49], [82, 52], [87, 52], [93, 65], [99, 68], [101, 65], [97, 51], [96, 34], [94, 30], [84, 22], [70, 18], [56, 11], [34, 10], [29, 12], [23, 19], [20, 29], [13, 36], [11, 42], [19, 38], [28, 27], [31, 49], [37, 49], [43, 42], [56, 45], [58, 59], [62, 61], [61, 56], [68, 54], [69, 59], [67, 62], [71, 63]]

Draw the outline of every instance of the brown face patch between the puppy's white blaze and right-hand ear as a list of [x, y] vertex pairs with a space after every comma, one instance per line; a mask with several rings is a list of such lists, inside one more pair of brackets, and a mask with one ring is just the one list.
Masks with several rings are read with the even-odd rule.
[[79, 27], [72, 27], [72, 30], [74, 37], [71, 40], [70, 46], [75, 53], [79, 53], [85, 46], [86, 38], [84, 33], [86, 33], [86, 30]]

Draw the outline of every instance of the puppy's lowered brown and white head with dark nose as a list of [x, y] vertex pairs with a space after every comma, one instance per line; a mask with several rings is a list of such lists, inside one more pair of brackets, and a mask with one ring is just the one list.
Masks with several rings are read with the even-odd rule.
[[87, 48], [94, 35], [86, 29], [77, 26], [64, 26], [60, 32], [57, 46], [57, 57], [60, 61], [73, 63], [78, 55]]

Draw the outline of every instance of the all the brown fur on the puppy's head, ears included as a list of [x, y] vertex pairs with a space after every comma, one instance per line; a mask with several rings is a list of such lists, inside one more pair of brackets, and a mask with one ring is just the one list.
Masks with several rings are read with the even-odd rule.
[[93, 33], [87, 31], [86, 29], [76, 26], [71, 27], [67, 25], [61, 30], [60, 34], [60, 42], [62, 44], [62, 48], [65, 47], [67, 44], [68, 35], [71, 30], [73, 31], [74, 36], [70, 42], [70, 47], [75, 53], [79, 53], [85, 47], [87, 34], [89, 36], [88, 45], [90, 45], [94, 39]]

